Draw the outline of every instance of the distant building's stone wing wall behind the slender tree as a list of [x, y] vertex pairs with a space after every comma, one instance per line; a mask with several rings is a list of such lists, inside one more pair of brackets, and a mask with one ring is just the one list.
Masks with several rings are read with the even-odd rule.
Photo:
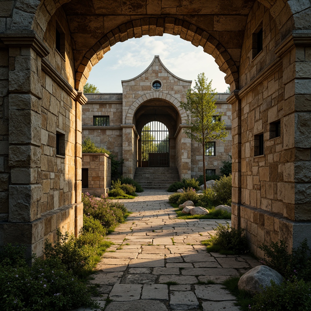
[[[216, 112], [223, 114], [221, 120], [225, 121], [226, 130], [229, 132], [225, 142], [216, 141], [215, 156], [205, 156], [205, 169], [215, 169], [217, 175], [221, 175], [220, 168], [223, 161], [230, 161], [231, 156], [231, 105], [226, 99], [229, 94], [218, 93], [216, 102]], [[191, 141], [191, 177], [196, 178], [203, 174], [202, 145]]]

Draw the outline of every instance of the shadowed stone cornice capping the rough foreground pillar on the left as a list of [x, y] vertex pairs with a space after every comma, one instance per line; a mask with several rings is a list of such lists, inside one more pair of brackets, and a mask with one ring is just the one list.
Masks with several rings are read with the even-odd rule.
[[0, 34], [0, 39], [5, 45], [16, 47], [31, 47], [40, 57], [49, 55], [49, 48], [35, 33], [31, 34]]

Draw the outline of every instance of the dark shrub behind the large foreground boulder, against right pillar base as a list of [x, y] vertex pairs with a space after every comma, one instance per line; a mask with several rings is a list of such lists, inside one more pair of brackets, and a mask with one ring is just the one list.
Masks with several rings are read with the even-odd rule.
[[279, 272], [285, 279], [290, 280], [293, 276], [298, 280], [311, 282], [311, 256], [307, 239], [297, 249], [289, 253], [285, 242], [271, 242], [269, 245], [259, 246], [263, 250], [265, 258], [261, 262]]

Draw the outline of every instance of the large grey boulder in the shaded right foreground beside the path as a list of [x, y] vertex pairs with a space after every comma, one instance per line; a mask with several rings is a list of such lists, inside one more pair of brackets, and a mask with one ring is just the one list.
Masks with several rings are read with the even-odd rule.
[[281, 284], [283, 276], [272, 268], [261, 265], [242, 275], [238, 287], [239, 290], [247, 290], [252, 294], [256, 294], [261, 291], [260, 285], [262, 285], [263, 288], [271, 286], [271, 280], [276, 284]]

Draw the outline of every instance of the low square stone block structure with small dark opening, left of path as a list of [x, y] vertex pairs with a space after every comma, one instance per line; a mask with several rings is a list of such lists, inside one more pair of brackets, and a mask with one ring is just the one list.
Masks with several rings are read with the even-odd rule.
[[82, 184], [83, 193], [96, 196], [108, 193], [111, 187], [111, 158], [108, 154], [82, 153], [82, 169], [88, 169], [88, 186]]

